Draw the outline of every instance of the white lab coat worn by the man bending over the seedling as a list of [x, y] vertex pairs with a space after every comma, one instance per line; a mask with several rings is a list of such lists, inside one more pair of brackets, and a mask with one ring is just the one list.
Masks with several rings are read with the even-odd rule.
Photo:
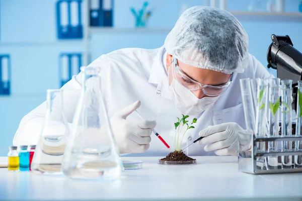
[[[100, 56], [91, 66], [102, 68], [103, 92], [106, 97], [108, 115], [112, 117], [117, 111], [141, 101], [138, 109], [140, 115], [148, 120], [156, 120], [156, 131], [172, 146], [174, 140], [174, 123], [181, 113], [174, 107], [171, 92], [168, 87], [168, 77], [165, 63], [165, 48], [140, 49], [126, 48]], [[249, 55], [249, 64], [244, 73], [234, 73], [233, 82], [216, 101], [214, 106], [202, 114], [190, 116], [189, 120], [197, 118], [195, 129], [190, 129], [183, 140], [183, 146], [198, 138], [198, 132], [210, 125], [226, 122], [236, 122], [245, 128], [244, 112], [240, 91], [241, 78], [268, 78], [271, 75], [265, 67], [252, 55]], [[73, 76], [63, 89], [79, 89], [82, 74]], [[79, 91], [78, 91], [79, 92]], [[75, 91], [64, 98], [67, 120], [72, 122], [73, 113], [77, 106], [79, 93]], [[14, 145], [36, 144], [41, 131], [46, 111], [46, 103], [26, 115], [19, 126], [14, 138]], [[133, 113], [129, 119], [139, 119]], [[113, 125], [114, 126], [114, 125]], [[168, 149], [152, 134], [149, 149], [144, 153], [132, 154], [140, 156], [165, 156]], [[215, 155], [214, 152], [205, 152], [203, 146], [195, 143], [186, 150], [188, 155]]]

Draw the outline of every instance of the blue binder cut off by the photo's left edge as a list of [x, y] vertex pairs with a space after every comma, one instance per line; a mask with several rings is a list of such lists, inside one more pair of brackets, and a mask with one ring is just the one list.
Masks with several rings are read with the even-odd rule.
[[0, 95], [11, 94], [11, 60], [10, 55], [0, 55]]

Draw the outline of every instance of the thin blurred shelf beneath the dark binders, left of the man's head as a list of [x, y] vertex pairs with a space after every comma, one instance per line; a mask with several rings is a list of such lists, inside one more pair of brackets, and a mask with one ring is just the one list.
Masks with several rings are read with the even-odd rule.
[[[171, 28], [172, 29], [172, 28]], [[104, 27], [90, 27], [90, 33], [169, 33], [171, 29], [168, 28], [104, 28]]]

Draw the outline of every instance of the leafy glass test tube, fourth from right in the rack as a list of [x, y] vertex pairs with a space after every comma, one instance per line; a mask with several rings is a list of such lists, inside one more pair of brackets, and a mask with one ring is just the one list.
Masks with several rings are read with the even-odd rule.
[[[257, 102], [256, 102], [256, 137], [266, 137], [268, 134], [267, 128], [267, 96], [268, 96], [268, 80], [257, 79]], [[257, 142], [257, 149], [260, 152], [266, 151], [265, 142]], [[265, 157], [256, 159], [257, 166], [260, 169], [265, 167]]]

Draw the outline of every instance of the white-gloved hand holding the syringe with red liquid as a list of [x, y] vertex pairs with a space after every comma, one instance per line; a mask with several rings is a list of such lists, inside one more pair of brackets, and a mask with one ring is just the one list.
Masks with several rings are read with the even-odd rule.
[[121, 154], [141, 153], [149, 148], [150, 128], [156, 126], [156, 121], [126, 119], [139, 106], [140, 101], [137, 101], [116, 113], [110, 120]]

